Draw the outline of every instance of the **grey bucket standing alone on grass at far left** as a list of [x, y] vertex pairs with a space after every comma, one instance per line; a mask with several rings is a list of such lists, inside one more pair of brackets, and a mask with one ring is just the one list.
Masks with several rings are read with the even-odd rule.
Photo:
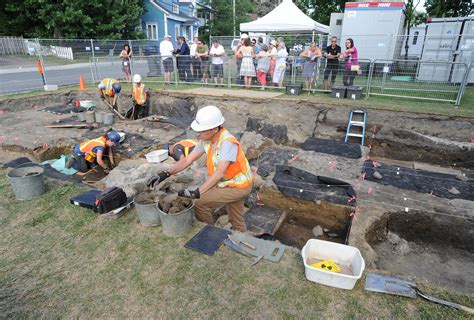
[[35, 163], [24, 163], [7, 173], [17, 200], [38, 198], [46, 192], [44, 168]]

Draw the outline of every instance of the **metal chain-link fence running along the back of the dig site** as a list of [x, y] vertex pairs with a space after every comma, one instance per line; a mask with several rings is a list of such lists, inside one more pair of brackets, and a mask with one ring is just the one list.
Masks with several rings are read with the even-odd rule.
[[[256, 40], [258, 37], [251, 36]], [[266, 89], [278, 90], [289, 84], [302, 84], [303, 90], [311, 93], [328, 91], [331, 86], [352, 84], [362, 87], [365, 97], [382, 95], [449, 101], [459, 105], [464, 88], [473, 74], [473, 68], [470, 68], [473, 57], [468, 59], [469, 52], [463, 49], [467, 48], [465, 42], [470, 39], [465, 36], [467, 40], [458, 39], [462, 40], [461, 47], [455, 56], [440, 51], [436, 57], [441, 60], [427, 61], [390, 57], [369, 59], [362, 54], [364, 50], [374, 51], [378, 48], [379, 52], [385, 50], [383, 52], [388, 54], [393, 50], [386, 48], [394, 49], [395, 44], [399, 57], [407, 38], [391, 35], [378, 38], [358, 36], [357, 70], [348, 70], [343, 60], [337, 65], [328, 65], [324, 57], [308, 61], [300, 56], [311, 42], [316, 42], [324, 52], [329, 40], [327, 35], [262, 35], [264, 43], [277, 38], [283, 39], [289, 56], [280, 63], [279, 68], [276, 68], [276, 59], [267, 58], [270, 66], [265, 75], [258, 72], [257, 58], [252, 59], [255, 75], [247, 72], [250, 68], [248, 63], [244, 68], [247, 71], [242, 72], [242, 59], [237, 59], [232, 51], [240, 39], [234, 37], [211, 37], [211, 42], [218, 39], [226, 51], [222, 61], [211, 56], [162, 57], [159, 55], [160, 43], [156, 40], [0, 38], [4, 48], [0, 52], [0, 94], [42, 89], [44, 85], [77, 85], [80, 76], [86, 82], [93, 83], [107, 77], [130, 81], [131, 75], [139, 73], [150, 82], [242, 87], [245, 86], [247, 75], [250, 76], [247, 86], [253, 88], [265, 86]], [[432, 40], [452, 40], [445, 38]], [[424, 43], [428, 43], [426, 39]], [[119, 57], [124, 46], [131, 49], [127, 66], [124, 65], [124, 59]], [[424, 50], [435, 52], [431, 46]], [[456, 57], [462, 58], [463, 62], [453, 62]]]

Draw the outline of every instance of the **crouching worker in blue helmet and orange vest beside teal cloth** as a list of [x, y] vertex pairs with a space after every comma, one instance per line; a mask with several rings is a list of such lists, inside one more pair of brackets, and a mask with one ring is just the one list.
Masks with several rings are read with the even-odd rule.
[[97, 162], [103, 169], [108, 170], [107, 164], [102, 159], [104, 152], [108, 149], [110, 165], [115, 166], [112, 147], [119, 143], [120, 135], [115, 131], [109, 131], [97, 139], [84, 141], [74, 147], [72, 158], [66, 163], [66, 168], [87, 172]]

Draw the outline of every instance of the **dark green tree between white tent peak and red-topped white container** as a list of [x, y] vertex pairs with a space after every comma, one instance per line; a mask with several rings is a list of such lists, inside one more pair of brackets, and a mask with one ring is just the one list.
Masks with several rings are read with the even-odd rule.
[[331, 13], [343, 12], [346, 0], [296, 0], [295, 4], [311, 19], [329, 25]]

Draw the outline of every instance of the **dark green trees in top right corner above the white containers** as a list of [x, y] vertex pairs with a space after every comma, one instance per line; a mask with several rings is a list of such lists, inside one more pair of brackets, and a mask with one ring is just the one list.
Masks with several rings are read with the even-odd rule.
[[426, 12], [430, 17], [467, 17], [473, 11], [472, 0], [426, 0]]

